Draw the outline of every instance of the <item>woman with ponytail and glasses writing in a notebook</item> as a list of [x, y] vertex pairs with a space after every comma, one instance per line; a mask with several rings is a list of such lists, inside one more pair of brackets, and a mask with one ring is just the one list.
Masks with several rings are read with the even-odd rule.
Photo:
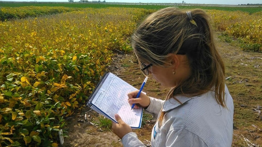
[[[225, 66], [209, 16], [203, 10], [169, 7], [148, 16], [132, 36], [132, 47], [145, 75], [171, 87], [166, 100], [137, 91], [128, 94], [157, 117], [152, 147], [229, 147], [233, 135], [233, 100], [225, 85]], [[130, 126], [115, 115], [113, 132], [123, 145], [144, 146]]]

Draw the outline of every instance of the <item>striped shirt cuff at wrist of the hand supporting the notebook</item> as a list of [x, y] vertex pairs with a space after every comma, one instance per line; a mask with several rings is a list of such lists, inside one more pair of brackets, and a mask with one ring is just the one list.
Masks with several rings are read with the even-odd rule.
[[135, 132], [125, 134], [121, 141], [124, 147], [146, 147]]

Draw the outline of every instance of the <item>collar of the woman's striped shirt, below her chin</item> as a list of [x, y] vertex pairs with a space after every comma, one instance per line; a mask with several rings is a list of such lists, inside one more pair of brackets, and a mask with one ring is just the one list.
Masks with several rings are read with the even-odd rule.
[[[192, 98], [193, 97], [186, 97], [186, 96], [181, 96], [181, 95], [176, 96], [176, 99], [178, 99], [182, 104], [184, 104], [185, 102], [187, 102], [188, 100], [190, 100]], [[165, 101], [162, 111], [168, 111], [168, 110], [174, 109], [174, 108], [176, 108], [176, 107], [178, 107], [182, 104], [180, 104], [174, 98], [170, 98], [170, 99]]]

